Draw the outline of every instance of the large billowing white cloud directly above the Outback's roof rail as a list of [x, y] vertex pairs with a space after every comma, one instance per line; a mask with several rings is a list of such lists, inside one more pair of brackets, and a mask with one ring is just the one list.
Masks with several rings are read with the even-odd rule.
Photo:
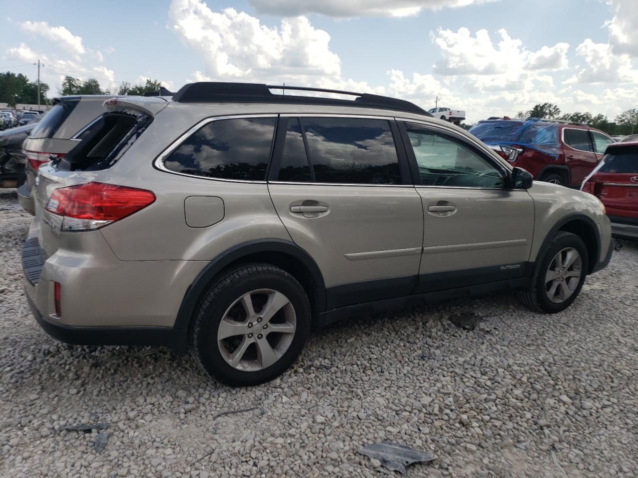
[[168, 16], [170, 28], [201, 55], [206, 74], [216, 79], [339, 77], [330, 35], [308, 18], [282, 20], [279, 28], [270, 28], [247, 13], [232, 8], [216, 13], [198, 0], [174, 0]]

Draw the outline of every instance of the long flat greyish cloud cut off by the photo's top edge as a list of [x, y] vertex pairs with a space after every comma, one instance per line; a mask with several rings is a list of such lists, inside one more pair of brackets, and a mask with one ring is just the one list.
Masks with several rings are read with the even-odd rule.
[[497, 0], [249, 0], [258, 13], [298, 17], [320, 13], [328, 17], [409, 17], [422, 10], [440, 10]]

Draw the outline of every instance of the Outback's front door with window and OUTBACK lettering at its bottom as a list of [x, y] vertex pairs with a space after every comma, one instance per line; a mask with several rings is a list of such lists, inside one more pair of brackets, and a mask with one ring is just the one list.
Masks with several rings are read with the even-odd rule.
[[424, 210], [419, 293], [528, 272], [533, 199], [504, 187], [507, 168], [453, 131], [401, 124]]

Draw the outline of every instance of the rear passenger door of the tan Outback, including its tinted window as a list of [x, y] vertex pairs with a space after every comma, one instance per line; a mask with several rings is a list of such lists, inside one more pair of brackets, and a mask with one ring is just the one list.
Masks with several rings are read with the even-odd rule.
[[329, 309], [415, 288], [423, 210], [396, 131], [391, 118], [279, 119], [269, 191], [319, 266]]

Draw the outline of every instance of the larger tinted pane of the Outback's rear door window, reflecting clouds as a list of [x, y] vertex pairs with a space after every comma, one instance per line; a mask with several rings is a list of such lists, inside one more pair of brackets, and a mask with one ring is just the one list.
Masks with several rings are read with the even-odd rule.
[[392, 131], [387, 120], [301, 118], [316, 182], [399, 184]]

